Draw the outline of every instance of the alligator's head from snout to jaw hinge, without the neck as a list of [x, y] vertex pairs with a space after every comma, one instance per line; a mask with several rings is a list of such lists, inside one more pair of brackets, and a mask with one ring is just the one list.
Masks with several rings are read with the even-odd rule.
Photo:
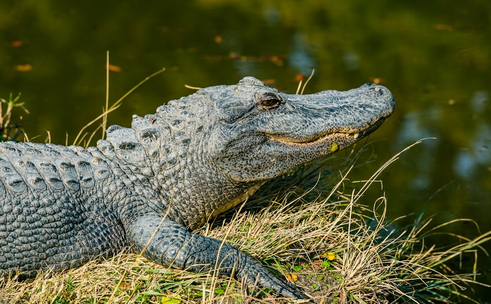
[[300, 164], [344, 149], [392, 114], [386, 88], [365, 84], [346, 92], [280, 93], [253, 77], [237, 85], [205, 88], [211, 155], [237, 181], [268, 180]]

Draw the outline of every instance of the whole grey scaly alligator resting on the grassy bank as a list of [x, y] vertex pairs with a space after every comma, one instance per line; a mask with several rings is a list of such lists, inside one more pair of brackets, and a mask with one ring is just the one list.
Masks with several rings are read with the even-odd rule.
[[342, 150], [392, 114], [389, 90], [285, 94], [254, 77], [110, 126], [97, 147], [0, 144], [0, 278], [59, 272], [131, 248], [166, 267], [302, 298], [291, 283], [195, 228], [266, 181]]

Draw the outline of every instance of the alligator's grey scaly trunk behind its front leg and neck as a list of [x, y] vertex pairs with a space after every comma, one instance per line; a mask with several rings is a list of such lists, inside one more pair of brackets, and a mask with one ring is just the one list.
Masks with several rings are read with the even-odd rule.
[[107, 198], [113, 181], [96, 149], [1, 143], [0, 276], [59, 271], [120, 251], [124, 229]]

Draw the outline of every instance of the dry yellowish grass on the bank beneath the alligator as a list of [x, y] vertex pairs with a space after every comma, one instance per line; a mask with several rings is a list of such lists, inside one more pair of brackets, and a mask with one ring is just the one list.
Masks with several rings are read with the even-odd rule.
[[[117, 103], [106, 105], [104, 115]], [[96, 131], [81, 131], [76, 142], [87, 145]], [[279, 276], [295, 280], [316, 303], [459, 303], [465, 299], [463, 288], [476, 283], [476, 271], [460, 273], [452, 261], [463, 255], [477, 260], [480, 244], [491, 233], [474, 239], [447, 233], [456, 245], [436, 248], [426, 245], [427, 238], [457, 221], [431, 228], [432, 219], [420, 214], [411, 227], [393, 228], [385, 219], [385, 197], [367, 202], [364, 194], [369, 187], [383, 193], [378, 176], [399, 154], [360, 183], [347, 178], [357, 159], [354, 149], [336, 161], [336, 168], [344, 169], [301, 168], [269, 182], [240, 208], [196, 232], [225, 239], [261, 259]], [[324, 161], [332, 165], [334, 159]], [[349, 190], [354, 185], [358, 188]], [[170, 270], [121, 253], [65, 273], [40, 273], [31, 281], [0, 279], [0, 303], [305, 302], [249, 288], [213, 272]]]

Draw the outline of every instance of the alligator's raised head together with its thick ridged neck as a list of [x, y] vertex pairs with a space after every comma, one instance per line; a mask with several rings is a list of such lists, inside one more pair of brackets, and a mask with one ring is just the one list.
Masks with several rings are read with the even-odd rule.
[[375, 84], [289, 95], [246, 77], [135, 115], [132, 128], [111, 126], [98, 148], [149, 178], [172, 198], [173, 218], [197, 227], [268, 179], [353, 145], [393, 110], [390, 92]]

